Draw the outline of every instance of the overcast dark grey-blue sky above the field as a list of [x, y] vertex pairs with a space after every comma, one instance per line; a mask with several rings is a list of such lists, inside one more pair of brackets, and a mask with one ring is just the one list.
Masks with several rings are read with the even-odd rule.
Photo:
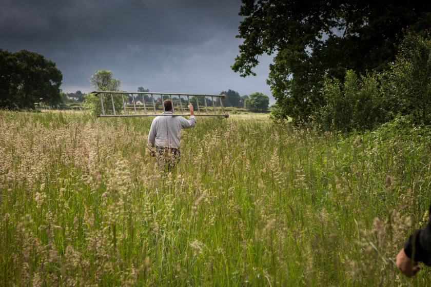
[[263, 92], [271, 57], [260, 57], [257, 76], [230, 66], [240, 0], [2, 0], [0, 48], [30, 50], [63, 72], [65, 92], [91, 90], [96, 70], [111, 70], [121, 89], [241, 95]]

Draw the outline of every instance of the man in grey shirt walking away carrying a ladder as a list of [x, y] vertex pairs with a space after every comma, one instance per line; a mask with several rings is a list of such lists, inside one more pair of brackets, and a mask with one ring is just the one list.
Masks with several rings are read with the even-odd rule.
[[171, 171], [180, 160], [180, 132], [181, 129], [189, 129], [196, 124], [193, 105], [189, 104], [189, 119], [182, 116], [174, 116], [172, 102], [167, 99], [163, 102], [165, 112], [163, 116], [157, 116], [151, 123], [148, 141], [155, 151], [151, 151], [152, 156], [156, 156], [159, 167], [164, 169], [168, 166]]

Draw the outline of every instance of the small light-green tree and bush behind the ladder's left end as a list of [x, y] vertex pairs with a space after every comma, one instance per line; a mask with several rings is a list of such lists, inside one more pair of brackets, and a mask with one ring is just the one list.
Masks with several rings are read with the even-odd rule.
[[[99, 70], [94, 73], [90, 78], [91, 88], [96, 91], [119, 91], [121, 81], [112, 78], [112, 71]], [[123, 112], [123, 99], [121, 95], [115, 94], [102, 94], [103, 107], [105, 113], [112, 114], [112, 99], [114, 102], [115, 113], [120, 114]], [[125, 99], [126, 100], [126, 99]], [[84, 106], [89, 109], [93, 114], [102, 114], [102, 106], [100, 96], [92, 93], [87, 94], [84, 101]]]

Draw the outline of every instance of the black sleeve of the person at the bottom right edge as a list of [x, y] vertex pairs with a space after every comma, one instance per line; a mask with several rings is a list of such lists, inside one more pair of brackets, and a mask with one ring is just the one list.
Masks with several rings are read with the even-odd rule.
[[[431, 216], [431, 206], [429, 212]], [[431, 266], [431, 217], [424, 229], [418, 229], [410, 235], [404, 243], [404, 252], [408, 258]]]

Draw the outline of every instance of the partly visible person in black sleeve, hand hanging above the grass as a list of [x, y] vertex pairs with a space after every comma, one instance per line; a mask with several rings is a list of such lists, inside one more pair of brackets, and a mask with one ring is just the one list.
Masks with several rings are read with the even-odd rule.
[[418, 261], [431, 266], [431, 206], [428, 216], [426, 227], [410, 235], [397, 255], [397, 267], [407, 277], [416, 275], [421, 269]]

